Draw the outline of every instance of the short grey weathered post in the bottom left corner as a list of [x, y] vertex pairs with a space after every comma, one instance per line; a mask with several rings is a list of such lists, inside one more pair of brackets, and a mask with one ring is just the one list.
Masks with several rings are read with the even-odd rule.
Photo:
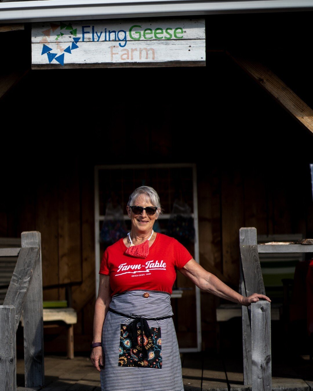
[[0, 389], [16, 391], [15, 307], [0, 305]]

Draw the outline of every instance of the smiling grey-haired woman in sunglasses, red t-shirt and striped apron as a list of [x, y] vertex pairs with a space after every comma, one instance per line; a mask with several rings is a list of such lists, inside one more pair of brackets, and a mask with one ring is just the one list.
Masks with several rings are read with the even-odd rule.
[[90, 358], [102, 391], [183, 391], [170, 301], [176, 270], [200, 289], [241, 305], [270, 299], [241, 296], [176, 239], [154, 232], [161, 206], [153, 188], [137, 188], [127, 213], [130, 233], [108, 247], [101, 261]]

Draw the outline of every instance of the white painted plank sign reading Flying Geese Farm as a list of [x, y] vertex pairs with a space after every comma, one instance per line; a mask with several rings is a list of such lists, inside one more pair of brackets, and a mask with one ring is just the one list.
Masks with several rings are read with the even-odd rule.
[[205, 65], [205, 20], [32, 23], [32, 69]]

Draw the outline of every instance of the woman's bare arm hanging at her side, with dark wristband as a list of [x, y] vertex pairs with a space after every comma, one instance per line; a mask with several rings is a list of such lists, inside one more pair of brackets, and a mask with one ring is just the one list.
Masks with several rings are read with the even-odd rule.
[[[94, 339], [92, 343], [101, 342], [104, 317], [108, 312], [110, 301], [110, 276], [100, 274], [99, 292], [95, 301]], [[97, 346], [92, 349], [90, 359], [93, 366], [100, 372], [101, 368], [99, 368], [99, 364], [103, 366], [102, 346]]]

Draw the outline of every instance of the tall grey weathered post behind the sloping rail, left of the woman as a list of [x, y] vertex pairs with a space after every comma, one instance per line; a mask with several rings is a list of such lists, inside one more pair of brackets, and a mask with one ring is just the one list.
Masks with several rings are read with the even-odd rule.
[[38, 261], [26, 296], [24, 322], [25, 387], [44, 386], [43, 362], [43, 303], [41, 270], [41, 235], [38, 231], [22, 232], [22, 248], [39, 249]]

